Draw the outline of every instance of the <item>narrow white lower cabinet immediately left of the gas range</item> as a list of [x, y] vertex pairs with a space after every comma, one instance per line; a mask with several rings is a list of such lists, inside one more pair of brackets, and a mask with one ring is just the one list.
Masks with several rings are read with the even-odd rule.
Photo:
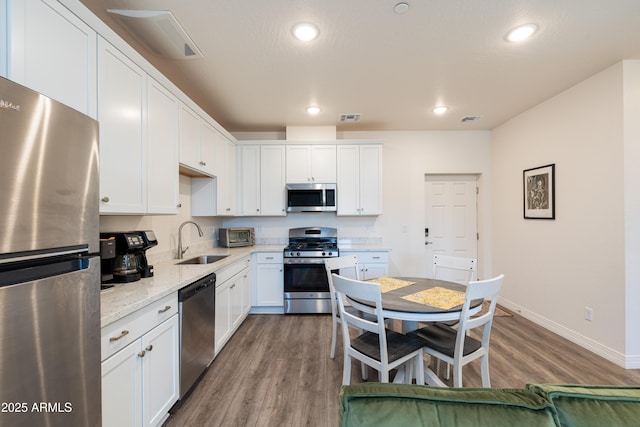
[[259, 252], [255, 257], [252, 311], [282, 313], [284, 310], [282, 252]]

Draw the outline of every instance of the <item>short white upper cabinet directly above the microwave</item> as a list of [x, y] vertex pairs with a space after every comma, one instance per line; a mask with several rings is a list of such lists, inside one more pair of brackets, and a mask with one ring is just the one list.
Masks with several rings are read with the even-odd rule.
[[287, 145], [287, 184], [335, 183], [335, 145]]

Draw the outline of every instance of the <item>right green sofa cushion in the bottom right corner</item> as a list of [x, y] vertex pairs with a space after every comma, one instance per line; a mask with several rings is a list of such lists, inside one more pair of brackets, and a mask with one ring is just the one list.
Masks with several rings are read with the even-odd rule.
[[546, 398], [563, 427], [626, 427], [640, 425], [640, 387], [527, 384]]

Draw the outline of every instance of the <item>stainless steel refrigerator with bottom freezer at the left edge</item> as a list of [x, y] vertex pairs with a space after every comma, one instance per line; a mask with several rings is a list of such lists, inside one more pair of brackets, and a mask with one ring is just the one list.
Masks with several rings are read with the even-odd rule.
[[98, 123], [0, 78], [0, 425], [99, 426]]

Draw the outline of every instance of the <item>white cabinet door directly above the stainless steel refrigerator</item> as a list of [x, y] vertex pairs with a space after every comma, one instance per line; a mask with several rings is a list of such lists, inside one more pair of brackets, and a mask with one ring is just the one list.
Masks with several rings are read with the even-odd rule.
[[96, 118], [95, 31], [57, 1], [7, 3], [7, 77]]

